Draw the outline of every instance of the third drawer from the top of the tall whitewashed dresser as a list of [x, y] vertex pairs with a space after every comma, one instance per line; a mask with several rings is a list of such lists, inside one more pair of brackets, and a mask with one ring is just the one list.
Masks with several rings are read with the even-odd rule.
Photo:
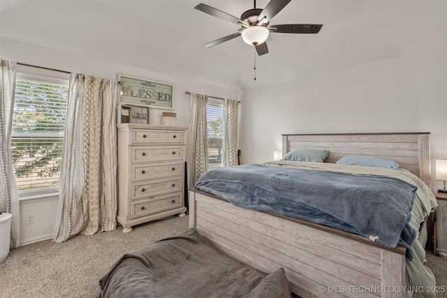
[[173, 161], [170, 163], [138, 163], [132, 165], [131, 171], [132, 181], [173, 177], [183, 174], [183, 161]]

